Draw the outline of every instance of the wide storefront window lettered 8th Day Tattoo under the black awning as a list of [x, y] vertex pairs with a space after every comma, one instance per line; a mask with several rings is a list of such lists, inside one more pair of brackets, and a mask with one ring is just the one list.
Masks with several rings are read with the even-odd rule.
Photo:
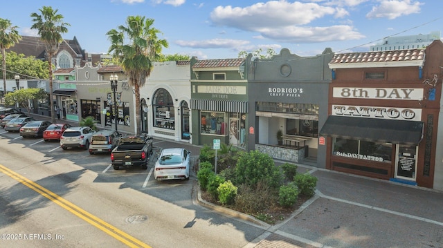
[[334, 138], [332, 155], [377, 162], [392, 161], [392, 144]]

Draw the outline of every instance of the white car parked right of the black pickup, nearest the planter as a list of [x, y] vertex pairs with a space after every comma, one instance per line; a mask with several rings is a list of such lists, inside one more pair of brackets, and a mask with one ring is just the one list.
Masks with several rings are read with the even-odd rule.
[[155, 163], [155, 180], [189, 180], [191, 152], [183, 148], [163, 149]]

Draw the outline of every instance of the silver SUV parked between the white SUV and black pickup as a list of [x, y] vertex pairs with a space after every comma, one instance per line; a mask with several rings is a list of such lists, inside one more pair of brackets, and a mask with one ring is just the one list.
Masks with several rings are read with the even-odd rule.
[[98, 131], [92, 136], [89, 154], [111, 153], [122, 135], [115, 130]]

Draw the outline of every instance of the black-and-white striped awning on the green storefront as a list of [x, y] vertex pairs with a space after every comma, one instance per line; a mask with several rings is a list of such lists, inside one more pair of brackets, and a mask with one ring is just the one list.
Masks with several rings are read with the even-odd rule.
[[231, 113], [247, 113], [248, 102], [242, 101], [220, 101], [210, 99], [191, 99], [191, 109], [201, 111], [220, 111]]

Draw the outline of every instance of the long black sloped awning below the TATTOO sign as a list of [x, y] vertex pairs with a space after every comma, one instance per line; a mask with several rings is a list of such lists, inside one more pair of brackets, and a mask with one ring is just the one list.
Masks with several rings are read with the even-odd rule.
[[418, 144], [423, 122], [329, 115], [320, 135], [393, 144]]

